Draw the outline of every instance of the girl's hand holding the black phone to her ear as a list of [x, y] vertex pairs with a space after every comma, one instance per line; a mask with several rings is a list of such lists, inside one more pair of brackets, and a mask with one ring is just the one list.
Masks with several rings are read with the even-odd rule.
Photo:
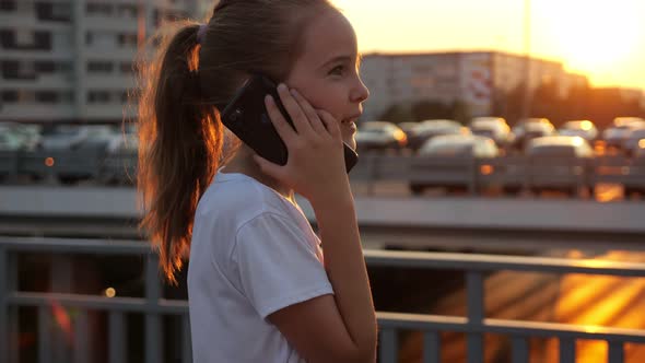
[[289, 153], [284, 166], [254, 155], [260, 169], [307, 198], [330, 202], [349, 190], [343, 144], [338, 121], [329, 113], [314, 107], [295, 90], [278, 86], [278, 94], [291, 116], [295, 130], [267, 95], [265, 105]]

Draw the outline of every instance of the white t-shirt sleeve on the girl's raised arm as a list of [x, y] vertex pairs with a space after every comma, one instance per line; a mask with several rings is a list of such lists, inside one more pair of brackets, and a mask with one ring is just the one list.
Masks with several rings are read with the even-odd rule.
[[333, 293], [315, 247], [285, 216], [263, 213], [247, 222], [237, 232], [232, 258], [243, 293], [262, 318]]

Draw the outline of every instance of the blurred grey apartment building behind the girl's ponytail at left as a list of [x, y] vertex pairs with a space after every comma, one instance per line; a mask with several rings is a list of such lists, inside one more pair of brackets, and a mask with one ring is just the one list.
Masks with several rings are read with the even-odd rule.
[[0, 0], [0, 121], [116, 122], [138, 47], [197, 0]]

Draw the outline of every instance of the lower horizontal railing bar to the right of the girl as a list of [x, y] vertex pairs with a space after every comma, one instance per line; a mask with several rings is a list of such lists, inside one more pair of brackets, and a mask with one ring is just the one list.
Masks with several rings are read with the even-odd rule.
[[541, 323], [486, 318], [483, 324], [470, 324], [466, 317], [377, 312], [378, 324], [384, 328], [409, 330], [439, 330], [456, 332], [484, 332], [524, 337], [572, 338], [645, 343], [645, 330], [561, 323]]

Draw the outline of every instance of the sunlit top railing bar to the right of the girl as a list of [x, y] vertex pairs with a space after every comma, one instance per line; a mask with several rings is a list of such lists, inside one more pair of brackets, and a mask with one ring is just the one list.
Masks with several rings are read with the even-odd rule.
[[368, 266], [645, 277], [645, 264], [550, 257], [364, 249]]

